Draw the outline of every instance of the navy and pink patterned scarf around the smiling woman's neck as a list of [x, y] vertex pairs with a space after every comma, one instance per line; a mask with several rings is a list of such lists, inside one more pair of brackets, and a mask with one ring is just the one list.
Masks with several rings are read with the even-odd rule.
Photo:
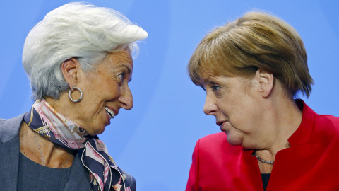
[[[131, 191], [126, 176], [109, 156], [106, 145], [83, 127], [54, 110], [46, 100], [37, 100], [24, 117], [30, 129], [64, 149], [82, 151], [81, 161], [90, 173], [92, 190]], [[121, 181], [122, 180], [122, 181]]]

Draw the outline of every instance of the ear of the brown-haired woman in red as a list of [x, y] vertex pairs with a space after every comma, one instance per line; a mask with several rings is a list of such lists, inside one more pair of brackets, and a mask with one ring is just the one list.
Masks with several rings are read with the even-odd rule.
[[256, 78], [258, 79], [260, 84], [259, 91], [261, 92], [261, 96], [263, 96], [263, 98], [267, 98], [268, 96], [270, 96], [270, 93], [273, 90], [274, 84], [273, 74], [258, 69], [256, 71]]

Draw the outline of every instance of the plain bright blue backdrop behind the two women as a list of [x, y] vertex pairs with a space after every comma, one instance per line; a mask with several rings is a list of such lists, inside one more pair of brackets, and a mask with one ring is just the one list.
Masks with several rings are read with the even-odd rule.
[[[30, 109], [32, 92], [21, 62], [25, 37], [44, 15], [68, 2], [0, 2], [0, 118]], [[88, 2], [114, 8], [148, 31], [134, 60], [133, 109], [121, 110], [100, 135], [118, 165], [135, 176], [138, 190], [184, 190], [196, 141], [220, 131], [214, 117], [203, 114], [205, 93], [191, 83], [186, 64], [209, 30], [246, 11], [268, 11], [296, 28], [315, 81], [304, 100], [318, 113], [339, 116], [339, 1]]]

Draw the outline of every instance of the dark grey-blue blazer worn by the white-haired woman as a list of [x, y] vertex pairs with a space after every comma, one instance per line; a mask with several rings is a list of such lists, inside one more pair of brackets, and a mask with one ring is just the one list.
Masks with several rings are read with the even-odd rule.
[[[9, 120], [0, 119], [0, 187], [8, 191], [18, 190], [19, 171], [19, 129], [23, 122], [23, 115]], [[131, 191], [136, 190], [136, 180], [126, 172], [126, 180], [129, 181]], [[78, 154], [74, 157], [71, 174], [64, 190], [90, 190], [88, 172], [83, 168]]]

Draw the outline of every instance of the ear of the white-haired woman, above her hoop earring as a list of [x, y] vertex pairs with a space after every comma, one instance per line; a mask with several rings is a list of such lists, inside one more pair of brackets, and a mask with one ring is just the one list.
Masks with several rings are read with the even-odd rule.
[[69, 83], [69, 88], [76, 86], [78, 82], [78, 70], [81, 69], [78, 59], [71, 58], [61, 64], [61, 71], [64, 79]]

